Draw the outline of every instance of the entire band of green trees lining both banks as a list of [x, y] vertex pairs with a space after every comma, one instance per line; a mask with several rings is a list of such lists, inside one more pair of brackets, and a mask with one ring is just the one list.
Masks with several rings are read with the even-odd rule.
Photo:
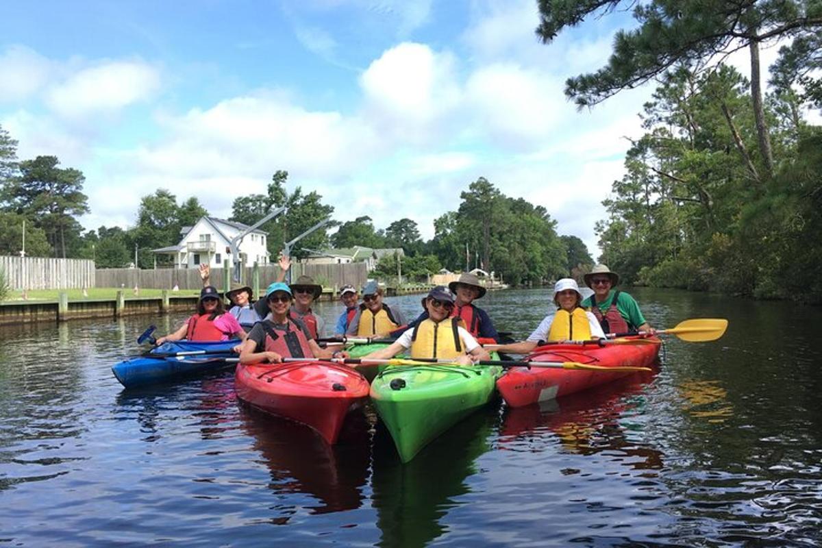
[[[538, 2], [537, 35], [549, 44], [568, 26], [620, 11], [618, 3]], [[822, 265], [822, 127], [810, 122], [810, 113], [818, 119], [822, 110], [817, 3], [651, 0], [636, 7], [636, 25], [617, 32], [606, 66], [566, 81], [566, 96], [580, 108], [656, 84], [640, 113], [644, 135], [626, 150], [624, 177], [610, 196], [589, 196], [607, 211], [595, 225], [603, 251], [596, 262], [626, 284], [822, 303], [822, 284], [815, 283]], [[762, 75], [760, 47], [776, 44], [777, 61]], [[750, 78], [725, 64], [745, 49]], [[0, 126], [0, 255], [19, 254], [25, 231], [28, 256], [150, 268], [151, 249], [176, 244], [182, 227], [208, 214], [196, 197], [178, 204], [161, 188], [142, 197], [132, 228], [86, 231], [76, 220], [90, 212], [81, 171], [58, 167], [56, 156], [18, 161], [16, 146]], [[335, 211], [316, 191], [289, 191], [288, 176], [277, 170], [266, 194], [238, 196], [229, 217], [251, 225], [272, 207], [287, 207], [261, 226], [271, 257], [281, 242]], [[380, 260], [377, 279], [401, 272], [402, 279], [423, 281], [443, 268], [479, 268], [512, 287], [569, 275], [581, 280], [595, 262], [579, 237], [556, 232], [545, 207], [506, 196], [485, 177], [459, 196], [438, 199], [452, 200], [455, 210], [435, 219], [427, 242], [413, 219], [376, 228], [363, 215], [316, 230], [293, 258], [331, 247], [401, 247], [404, 256]]]

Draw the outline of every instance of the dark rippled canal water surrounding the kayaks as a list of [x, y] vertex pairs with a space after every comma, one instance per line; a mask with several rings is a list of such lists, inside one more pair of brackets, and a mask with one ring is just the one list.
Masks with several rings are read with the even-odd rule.
[[[4, 326], [0, 542], [819, 546], [822, 310], [634, 294], [653, 325], [730, 328], [668, 338], [659, 371], [619, 385], [495, 403], [404, 466], [372, 412], [331, 449], [239, 406], [228, 372], [124, 391], [110, 366], [180, 315]], [[416, 315], [419, 299], [390, 301]], [[548, 310], [537, 291], [481, 304], [519, 336]], [[339, 306], [321, 312], [332, 322]]]

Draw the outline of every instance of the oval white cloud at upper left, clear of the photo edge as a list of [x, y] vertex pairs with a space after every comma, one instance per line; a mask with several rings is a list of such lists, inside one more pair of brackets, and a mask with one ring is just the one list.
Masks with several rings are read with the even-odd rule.
[[76, 71], [48, 90], [45, 102], [61, 117], [114, 113], [150, 98], [159, 89], [155, 67], [141, 61], [104, 62]]

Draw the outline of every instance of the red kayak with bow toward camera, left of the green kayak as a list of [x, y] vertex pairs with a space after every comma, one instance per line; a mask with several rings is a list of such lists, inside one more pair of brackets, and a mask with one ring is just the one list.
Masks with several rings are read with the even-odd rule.
[[368, 381], [350, 367], [317, 361], [238, 365], [237, 395], [255, 408], [311, 426], [335, 444], [345, 416], [362, 405]]

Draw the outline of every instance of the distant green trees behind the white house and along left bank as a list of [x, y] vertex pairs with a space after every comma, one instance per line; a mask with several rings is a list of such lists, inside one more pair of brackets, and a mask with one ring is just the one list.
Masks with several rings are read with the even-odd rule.
[[[268, 251], [276, 257], [284, 242], [312, 228], [334, 213], [316, 191], [302, 187], [288, 191], [289, 173], [276, 171], [266, 194], [238, 196], [229, 220], [252, 225], [272, 208], [285, 206], [285, 214], [268, 221]], [[93, 259], [99, 268], [164, 265], [170, 257], [151, 252], [173, 246], [182, 229], [191, 227], [208, 211], [196, 197], [178, 201], [166, 189], [143, 196], [131, 228], [101, 226], [84, 231], [76, 217], [89, 212], [82, 192], [85, 177], [74, 168], [61, 168], [54, 156], [18, 162], [16, 141], [0, 127], [0, 255]], [[495, 272], [508, 283], [543, 283], [568, 275], [581, 276], [593, 265], [582, 240], [556, 233], [556, 221], [542, 206], [505, 196], [484, 177], [459, 195], [456, 209], [434, 222], [429, 241], [420, 236], [413, 219], [398, 219], [376, 228], [368, 216], [345, 222], [332, 221], [299, 241], [292, 255], [303, 258], [330, 247], [402, 248], [402, 254], [383, 257], [376, 274], [384, 278], [401, 272], [404, 279], [424, 280], [445, 267], [451, 270], [481, 268]], [[398, 264], [399, 263], [399, 264]]]

